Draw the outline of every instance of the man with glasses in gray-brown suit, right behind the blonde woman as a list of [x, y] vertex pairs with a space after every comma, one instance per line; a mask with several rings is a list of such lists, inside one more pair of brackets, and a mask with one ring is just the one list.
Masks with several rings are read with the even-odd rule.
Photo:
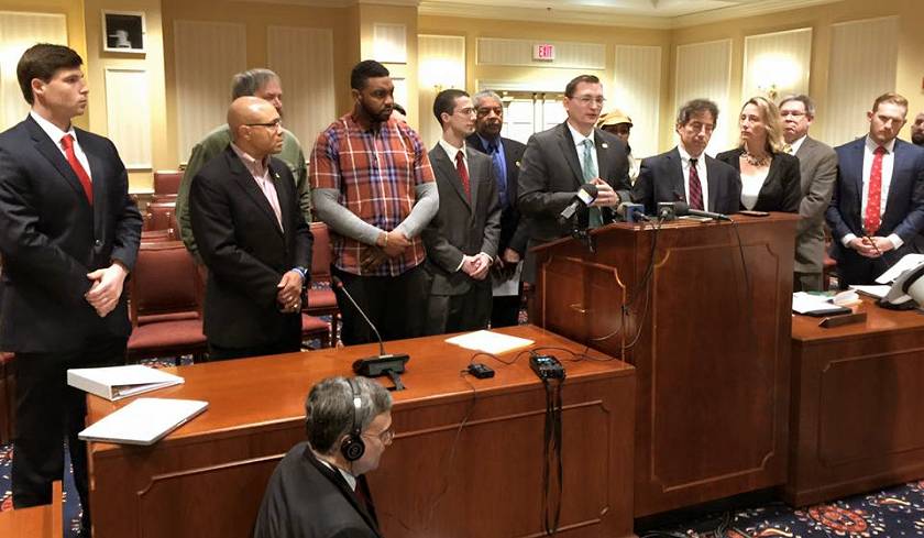
[[822, 289], [822, 270], [825, 257], [825, 210], [834, 193], [837, 178], [837, 154], [831, 146], [809, 136], [815, 119], [815, 103], [809, 96], [789, 96], [780, 101], [783, 118], [783, 138], [788, 152], [799, 158], [802, 173], [801, 217], [796, 227], [793, 289], [818, 292]]

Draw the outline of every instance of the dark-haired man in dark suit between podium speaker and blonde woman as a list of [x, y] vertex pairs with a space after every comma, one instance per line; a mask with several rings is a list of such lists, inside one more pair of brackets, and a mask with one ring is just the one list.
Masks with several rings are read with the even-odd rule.
[[641, 162], [632, 199], [654, 215], [659, 201], [685, 201], [691, 209], [718, 213], [738, 211], [741, 176], [732, 166], [706, 155], [718, 120], [718, 107], [706, 99], [684, 103], [676, 114], [680, 143]]

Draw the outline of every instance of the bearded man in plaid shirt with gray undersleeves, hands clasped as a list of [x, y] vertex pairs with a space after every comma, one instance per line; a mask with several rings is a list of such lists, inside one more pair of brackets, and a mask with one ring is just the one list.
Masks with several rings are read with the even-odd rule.
[[[309, 176], [318, 218], [331, 231], [333, 266], [384, 340], [424, 334], [430, 278], [420, 232], [439, 208], [420, 138], [391, 118], [394, 84], [375, 61], [353, 67], [353, 110], [315, 143]], [[345, 344], [375, 341], [339, 287]]]

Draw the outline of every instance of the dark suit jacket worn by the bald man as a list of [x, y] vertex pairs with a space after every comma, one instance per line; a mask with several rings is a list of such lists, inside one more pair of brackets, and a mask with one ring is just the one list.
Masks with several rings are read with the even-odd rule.
[[264, 345], [301, 330], [300, 315], [279, 312], [276, 285], [293, 267], [311, 267], [312, 238], [288, 166], [274, 157], [270, 169], [285, 232], [230, 145], [193, 180], [193, 234], [209, 268], [205, 333], [217, 345]]

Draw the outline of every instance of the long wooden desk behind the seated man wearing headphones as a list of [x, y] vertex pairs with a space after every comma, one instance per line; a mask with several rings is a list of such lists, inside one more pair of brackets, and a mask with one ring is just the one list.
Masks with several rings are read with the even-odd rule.
[[[531, 326], [503, 332], [584, 349]], [[387, 345], [411, 360], [403, 376], [407, 391], [393, 393], [397, 436], [369, 476], [383, 531], [389, 538], [539, 536], [544, 389], [526, 355], [510, 366], [480, 358], [496, 376], [463, 378], [472, 352], [443, 338]], [[90, 443], [94, 536], [249, 537], [270, 474], [305, 437], [311, 385], [348, 374], [354, 359], [376, 352], [377, 345], [360, 345], [169, 369], [185, 385], [154, 395], [205, 399], [209, 409], [154, 447]], [[616, 360], [566, 362], [568, 353], [552, 353], [568, 370], [559, 535], [632, 536], [635, 371]], [[88, 421], [119, 405], [90, 396]]]

